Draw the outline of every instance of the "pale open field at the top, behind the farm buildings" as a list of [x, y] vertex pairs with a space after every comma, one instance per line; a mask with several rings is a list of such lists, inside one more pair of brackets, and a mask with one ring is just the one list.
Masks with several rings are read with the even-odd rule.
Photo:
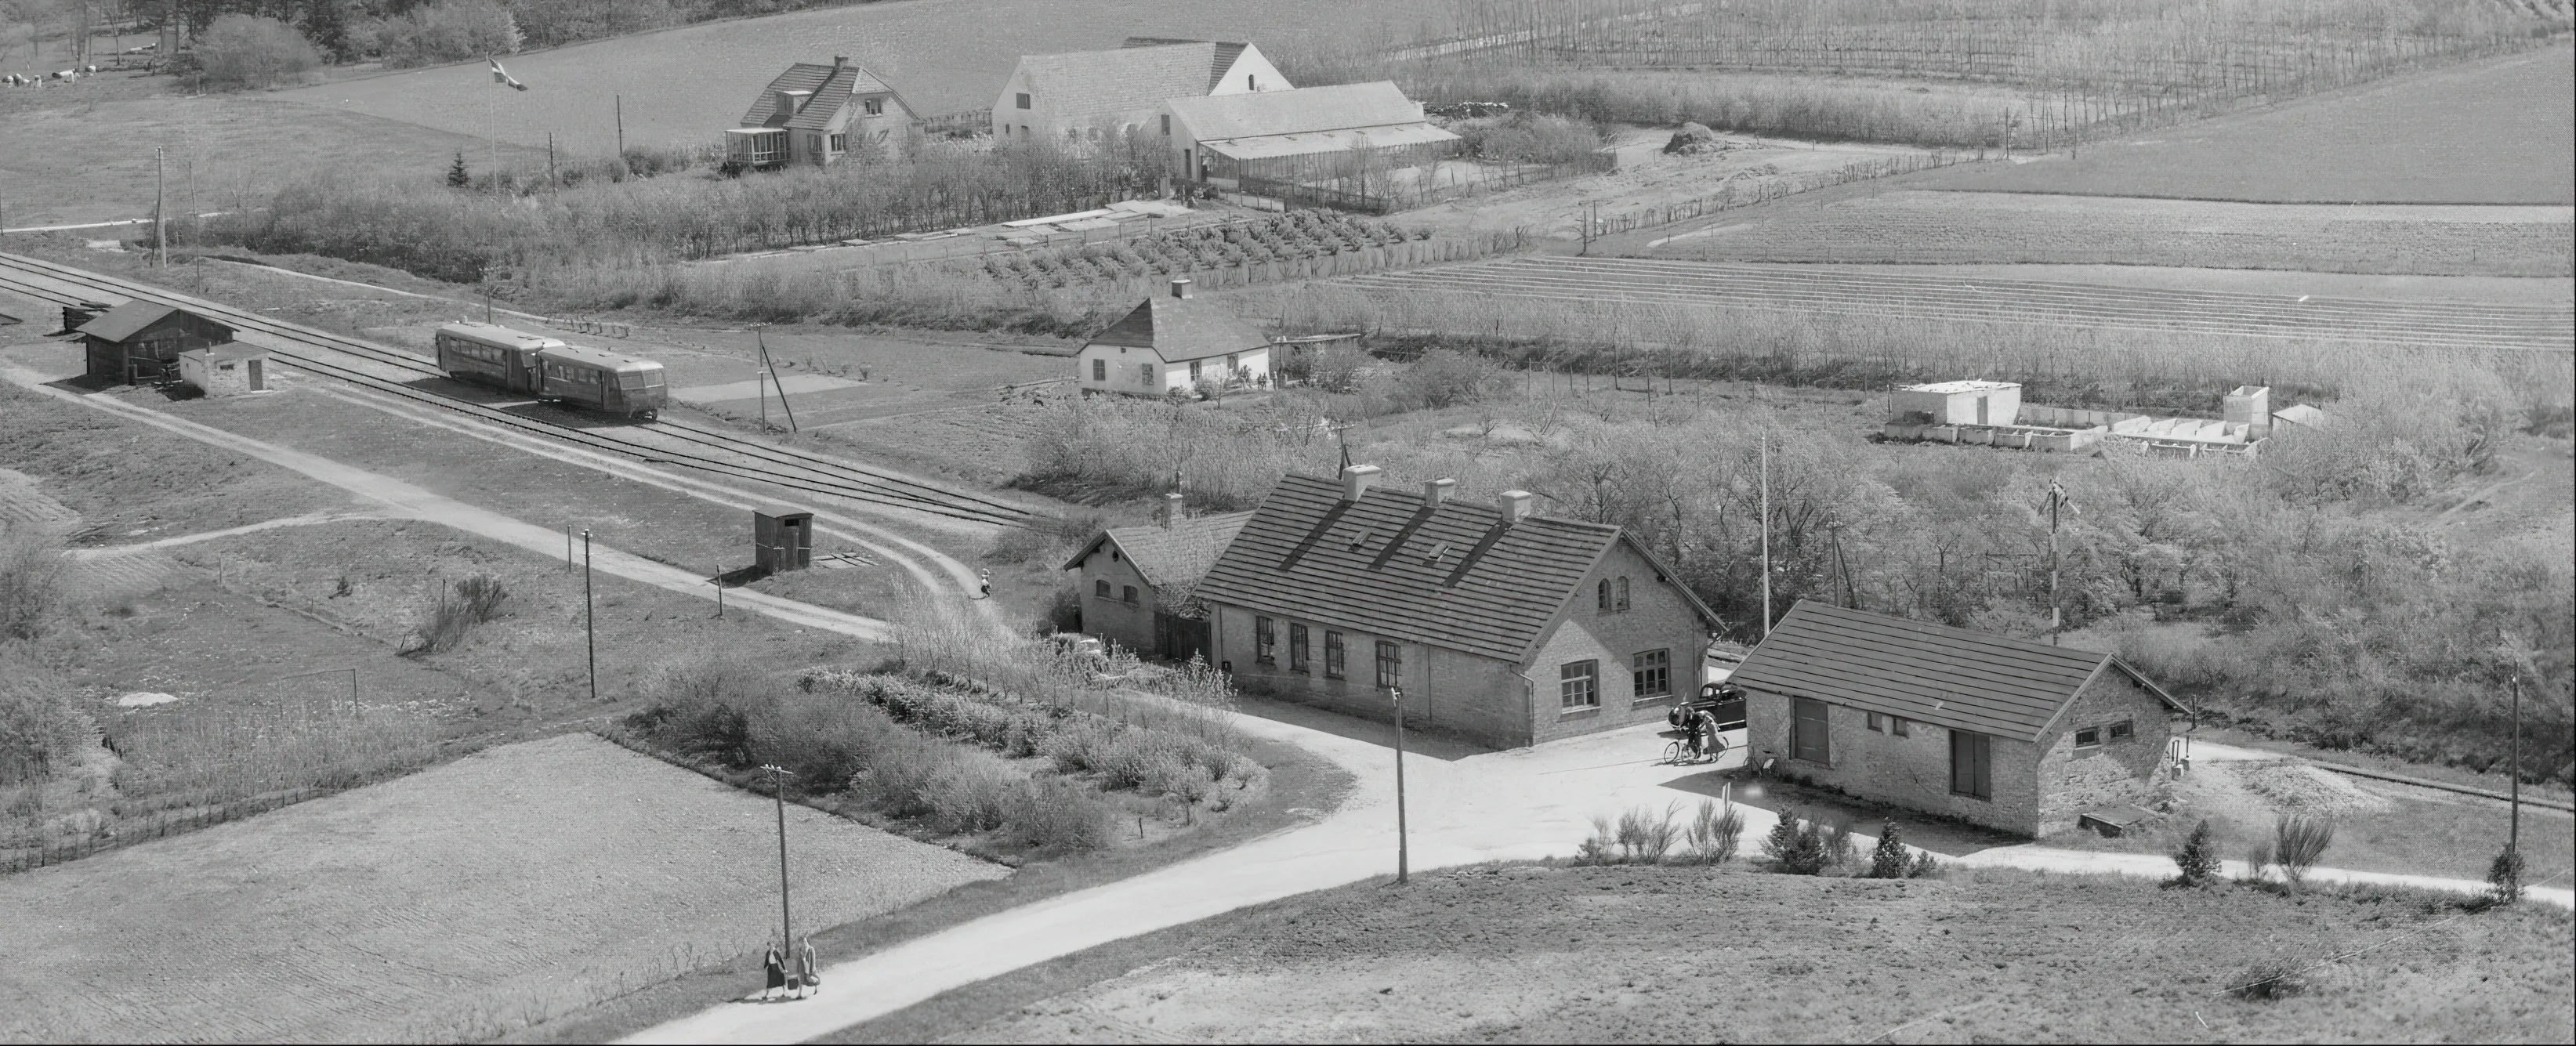
[[788, 62], [848, 54], [920, 116], [992, 106], [1020, 54], [1110, 49], [1126, 36], [1236, 39], [1262, 49], [1301, 39], [1412, 39], [1445, 5], [1432, 0], [1319, 0], [1273, 5], [1218, 0], [909, 0], [750, 18], [641, 33], [507, 59], [526, 93], [492, 90], [477, 62], [394, 72], [278, 93], [278, 98], [412, 121], [453, 134], [572, 155], [616, 152], [616, 106], [626, 142], [714, 144], [752, 95]]

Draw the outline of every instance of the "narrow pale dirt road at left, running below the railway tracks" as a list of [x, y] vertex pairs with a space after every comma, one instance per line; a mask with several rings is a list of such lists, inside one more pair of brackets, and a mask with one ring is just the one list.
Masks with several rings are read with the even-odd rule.
[[[474, 536], [484, 536], [484, 538], [492, 538], [492, 541], [502, 541], [502, 544], [513, 544], [513, 546], [528, 549], [528, 551], [533, 551], [538, 556], [546, 556], [546, 559], [554, 559], [564, 549], [562, 531], [551, 531], [551, 528], [544, 528], [544, 526], [523, 523], [523, 520], [492, 513], [487, 508], [474, 508], [474, 505], [459, 502], [453, 497], [433, 495], [433, 492], [420, 490], [415, 484], [407, 484], [402, 479], [381, 477], [381, 474], [374, 474], [374, 471], [366, 471], [366, 469], [355, 469], [355, 466], [348, 466], [348, 464], [340, 464], [340, 461], [332, 461], [332, 459], [325, 459], [325, 456], [304, 453], [304, 451], [291, 451], [291, 448], [283, 448], [283, 446], [276, 446], [276, 443], [263, 443], [263, 441], [255, 441], [255, 438], [247, 438], [247, 435], [224, 433], [219, 428], [209, 428], [209, 425], [198, 425], [198, 423], [191, 423], [191, 420], [183, 420], [183, 417], [173, 417], [173, 415], [165, 415], [165, 412], [157, 412], [157, 410], [137, 407], [137, 404], [129, 404], [129, 402], [121, 402], [121, 399], [113, 399], [113, 397], [82, 397], [82, 394], [75, 394], [75, 392], [54, 389], [54, 386], [46, 384], [46, 379], [41, 374], [33, 374], [33, 371], [21, 368], [21, 366], [0, 368], [0, 379], [8, 379], [8, 381], [13, 381], [18, 386], [26, 386], [31, 392], [41, 392], [41, 394], [49, 394], [49, 397], [77, 402], [77, 404], [93, 407], [93, 410], [106, 410], [111, 415], [129, 417], [129, 420], [137, 420], [137, 423], [144, 423], [144, 425], [152, 425], [152, 428], [167, 430], [167, 433], [178, 433], [178, 435], [185, 435], [185, 438], [193, 438], [193, 441], [222, 446], [227, 451], [247, 453], [252, 459], [260, 459], [260, 461], [268, 461], [268, 464], [276, 464], [276, 466], [283, 466], [283, 469], [301, 471], [301, 474], [307, 474], [312, 479], [319, 479], [319, 482], [327, 482], [332, 487], [348, 490], [350, 495], [358, 495], [358, 497], [366, 497], [366, 500], [386, 505], [386, 515], [402, 515], [402, 518], [415, 518], [415, 520], [422, 520], [422, 523], [453, 526], [453, 528], [474, 533]], [[644, 556], [636, 556], [636, 554], [626, 554], [626, 551], [616, 551], [616, 549], [605, 549], [605, 546], [592, 546], [590, 556], [592, 556], [592, 567], [600, 569], [600, 572], [605, 572], [605, 575], [636, 580], [636, 582], [644, 582], [644, 585], [654, 585], [654, 587], [662, 587], [662, 590], [672, 590], [672, 593], [683, 593], [683, 595], [693, 595], [693, 598], [703, 598], [703, 600], [716, 600], [716, 587], [708, 585], [706, 577], [690, 575], [690, 572], [685, 572], [680, 567], [659, 564], [659, 562], [652, 562], [652, 559], [644, 559]], [[742, 605], [747, 611], [765, 613], [770, 618], [788, 621], [788, 623], [804, 626], [804, 629], [829, 629], [829, 631], [840, 631], [840, 634], [855, 636], [855, 639], [884, 639], [886, 636], [886, 623], [884, 621], [863, 618], [863, 616], [855, 616], [855, 613], [824, 611], [819, 605], [783, 600], [783, 598], [755, 593], [755, 590], [747, 590], [747, 587], [726, 593], [724, 600], [729, 605]]]

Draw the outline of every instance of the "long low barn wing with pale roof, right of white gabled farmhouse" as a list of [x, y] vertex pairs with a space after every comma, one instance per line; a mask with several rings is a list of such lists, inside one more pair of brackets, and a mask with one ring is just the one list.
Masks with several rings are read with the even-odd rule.
[[1242, 178], [1347, 175], [1360, 157], [1376, 170], [1419, 167], [1461, 147], [1391, 80], [1172, 98], [1162, 108], [1172, 165], [1224, 188], [1236, 188]]

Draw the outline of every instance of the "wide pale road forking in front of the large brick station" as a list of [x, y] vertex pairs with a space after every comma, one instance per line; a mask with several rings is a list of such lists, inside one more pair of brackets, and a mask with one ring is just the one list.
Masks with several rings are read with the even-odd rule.
[[[626, 1043], [793, 1043], [889, 1015], [943, 992], [1110, 940], [1164, 930], [1280, 897], [1355, 884], [1396, 871], [1396, 786], [1391, 729], [1301, 706], [1244, 701], [1247, 734], [1291, 742], [1358, 778], [1342, 809], [1314, 824], [1177, 863], [1136, 879], [1054, 897], [907, 940], [824, 971], [832, 989], [796, 1005], [719, 1005], [647, 1028]], [[1571, 855], [1592, 817], [1631, 806], [1695, 806], [1716, 786], [1708, 768], [1662, 765], [1656, 724], [1510, 752], [1432, 745], [1404, 763], [1412, 868]], [[1777, 824], [1744, 806], [1744, 848]], [[1875, 845], [1873, 837], [1860, 840]], [[2169, 879], [2154, 855], [1996, 848], [1953, 863], [2089, 871]], [[2236, 871], [2236, 868], [2231, 868]], [[2316, 881], [2391, 881], [2478, 891], [2483, 884], [2316, 868]], [[2576, 904], [2566, 889], [2535, 899]], [[750, 984], [744, 984], [750, 989]]]

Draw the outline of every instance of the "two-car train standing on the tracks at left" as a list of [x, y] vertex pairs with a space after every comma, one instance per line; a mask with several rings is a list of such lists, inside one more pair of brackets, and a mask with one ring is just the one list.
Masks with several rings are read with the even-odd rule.
[[526, 392], [572, 407], [626, 417], [659, 417], [670, 404], [662, 363], [567, 345], [489, 322], [451, 322], [433, 335], [438, 371], [456, 381]]

